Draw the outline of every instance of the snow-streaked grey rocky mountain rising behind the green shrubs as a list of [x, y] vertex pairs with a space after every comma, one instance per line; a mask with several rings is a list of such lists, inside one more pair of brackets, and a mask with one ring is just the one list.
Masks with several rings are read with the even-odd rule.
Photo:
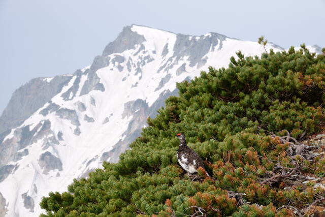
[[0, 117], [0, 216], [37, 216], [43, 196], [66, 191], [103, 161], [117, 162], [147, 117], [177, 95], [176, 82], [228, 67], [238, 50], [264, 52], [257, 42], [216, 33], [126, 26], [90, 66], [16, 90]]

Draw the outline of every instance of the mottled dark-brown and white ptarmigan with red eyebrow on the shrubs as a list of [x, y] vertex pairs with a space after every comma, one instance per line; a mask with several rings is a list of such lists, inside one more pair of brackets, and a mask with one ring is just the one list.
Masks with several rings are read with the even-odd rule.
[[[186, 145], [185, 135], [182, 133], [176, 134], [179, 138], [179, 148], [177, 151], [177, 160], [181, 167], [188, 173], [197, 173], [198, 168], [204, 168], [203, 160], [199, 154]], [[208, 176], [209, 174], [206, 173]]]

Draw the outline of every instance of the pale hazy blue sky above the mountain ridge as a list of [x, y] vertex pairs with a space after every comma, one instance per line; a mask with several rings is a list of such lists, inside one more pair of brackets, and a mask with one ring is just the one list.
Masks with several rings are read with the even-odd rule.
[[0, 0], [0, 114], [30, 79], [90, 65], [126, 25], [325, 47], [324, 10], [324, 0]]

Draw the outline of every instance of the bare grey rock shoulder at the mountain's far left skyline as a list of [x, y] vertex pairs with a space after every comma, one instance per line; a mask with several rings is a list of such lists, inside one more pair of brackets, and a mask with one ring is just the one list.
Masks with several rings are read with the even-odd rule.
[[27, 117], [58, 94], [71, 77], [56, 76], [49, 82], [44, 78], [35, 78], [15, 90], [0, 116], [0, 134], [18, 127]]

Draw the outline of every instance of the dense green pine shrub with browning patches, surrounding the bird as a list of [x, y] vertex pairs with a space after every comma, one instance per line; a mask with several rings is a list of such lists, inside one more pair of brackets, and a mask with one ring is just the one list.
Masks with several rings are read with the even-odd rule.
[[[263, 42], [262, 39], [261, 42]], [[41, 216], [184, 216], [201, 207], [208, 216], [293, 215], [291, 204], [312, 203], [320, 188], [261, 184], [275, 162], [294, 167], [285, 155], [287, 130], [299, 138], [324, 123], [325, 56], [298, 51], [232, 57], [228, 69], [209, 68], [177, 83], [179, 97], [166, 100], [117, 164], [104, 163], [87, 179], [73, 180], [68, 192], [49, 193]], [[192, 181], [177, 162], [184, 132], [188, 146], [205, 160], [212, 178]], [[304, 172], [324, 176], [324, 158], [302, 161]], [[228, 191], [242, 193], [238, 205]]]

